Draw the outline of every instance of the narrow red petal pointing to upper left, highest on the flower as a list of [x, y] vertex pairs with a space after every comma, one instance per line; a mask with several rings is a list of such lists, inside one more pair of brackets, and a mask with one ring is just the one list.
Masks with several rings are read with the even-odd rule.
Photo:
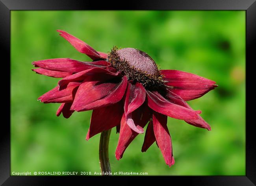
[[65, 40], [67, 40], [77, 51], [86, 54], [93, 60], [98, 59], [98, 58], [103, 58], [100, 56], [100, 54], [93, 49], [91, 46], [83, 42], [82, 40], [76, 38], [75, 36], [70, 35], [69, 33], [62, 31], [62, 30], [57, 30]]

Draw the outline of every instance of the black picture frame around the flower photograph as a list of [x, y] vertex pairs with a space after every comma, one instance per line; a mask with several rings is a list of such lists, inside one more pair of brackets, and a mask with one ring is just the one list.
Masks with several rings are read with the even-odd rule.
[[[2, 185], [46, 185], [52, 182], [67, 184], [81, 179], [86, 183], [93, 179], [111, 179], [115, 182], [132, 181], [132, 177], [55, 177], [55, 176], [10, 176], [10, 81], [7, 74], [10, 72], [10, 11], [11, 10], [88, 10], [88, 9], [123, 9], [123, 10], [245, 10], [246, 11], [246, 175], [245, 176], [170, 176], [161, 177], [161, 181], [169, 184], [190, 185], [242, 185], [256, 184], [256, 135], [254, 135], [253, 111], [253, 64], [256, 46], [256, 0], [162, 0], [154, 1], [127, 1], [113, 3], [91, 0], [0, 0], [0, 52], [2, 65], [2, 122], [0, 146], [0, 184]], [[9, 98], [9, 99], [8, 99]], [[253, 100], [253, 101], [251, 101]], [[252, 109], [250, 109], [252, 108]], [[8, 117], [9, 116], [9, 117]], [[136, 178], [136, 177], [135, 177]], [[137, 181], [151, 180], [157, 177], [137, 177]]]

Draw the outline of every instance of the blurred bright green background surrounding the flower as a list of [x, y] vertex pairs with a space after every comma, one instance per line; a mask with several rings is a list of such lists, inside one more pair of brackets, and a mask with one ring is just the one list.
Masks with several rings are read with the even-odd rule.
[[112, 171], [148, 175], [245, 175], [245, 11], [11, 11], [11, 171], [100, 172], [100, 134], [89, 141], [91, 111], [56, 117], [59, 104], [37, 98], [59, 79], [35, 74], [32, 62], [48, 58], [90, 61], [56, 32], [62, 29], [97, 51], [113, 46], [147, 52], [161, 69], [178, 69], [219, 87], [189, 101], [212, 130], [168, 118], [175, 164], [169, 168], [144, 134], [115, 159]]

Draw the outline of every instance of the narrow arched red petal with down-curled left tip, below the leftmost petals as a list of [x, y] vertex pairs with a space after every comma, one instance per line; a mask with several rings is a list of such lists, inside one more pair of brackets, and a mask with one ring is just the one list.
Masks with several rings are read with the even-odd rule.
[[59, 89], [61, 90], [66, 88], [69, 82], [82, 82], [85, 80], [89, 81], [93, 79], [108, 80], [110, 78], [117, 77], [118, 75], [120, 75], [119, 72], [113, 73], [107, 69], [96, 67], [96, 68], [84, 70], [84, 71], [75, 73], [73, 75], [70, 75], [68, 77], [65, 77], [58, 82], [58, 85], [59, 85]]

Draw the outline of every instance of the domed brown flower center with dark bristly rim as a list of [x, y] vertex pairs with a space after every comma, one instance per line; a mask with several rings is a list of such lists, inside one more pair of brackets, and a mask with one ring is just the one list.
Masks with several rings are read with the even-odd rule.
[[129, 80], [140, 82], [147, 88], [163, 84], [163, 78], [156, 63], [143, 51], [134, 48], [117, 49], [117, 47], [113, 47], [108, 55], [108, 60]]

